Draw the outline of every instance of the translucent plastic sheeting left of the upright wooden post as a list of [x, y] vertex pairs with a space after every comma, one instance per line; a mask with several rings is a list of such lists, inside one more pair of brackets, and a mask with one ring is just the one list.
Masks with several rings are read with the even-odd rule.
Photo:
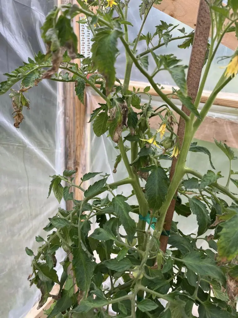
[[[0, 1], [0, 81], [3, 73], [45, 51], [40, 27], [54, 0]], [[15, 89], [19, 89], [16, 85]], [[57, 105], [57, 85], [43, 81], [27, 93], [30, 110], [19, 129], [13, 127], [11, 100], [0, 96], [0, 317], [20, 318], [38, 301], [29, 288], [31, 258], [25, 246], [37, 250], [47, 218], [57, 210], [57, 200], [47, 199], [49, 175], [62, 172], [63, 113]], [[60, 134], [59, 134], [60, 131]]]

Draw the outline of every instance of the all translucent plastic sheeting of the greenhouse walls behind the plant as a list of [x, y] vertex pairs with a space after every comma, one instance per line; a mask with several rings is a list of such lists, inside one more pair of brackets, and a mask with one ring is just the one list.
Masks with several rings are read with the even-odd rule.
[[[138, 0], [130, 1], [129, 21], [135, 30], [129, 26], [129, 36], [132, 42], [140, 28]], [[34, 53], [44, 51], [44, 44], [41, 39], [40, 27], [45, 20], [46, 14], [55, 4], [54, 0], [0, 0], [0, 81], [4, 80], [3, 73], [9, 73], [27, 58], [33, 58]], [[183, 24], [152, 8], [149, 19], [146, 22], [143, 34], [155, 31], [155, 25], [159, 20], [167, 23]], [[156, 21], [156, 22], [154, 22]], [[185, 26], [190, 32], [188, 26]], [[181, 35], [174, 31], [174, 36]], [[191, 48], [178, 49], [180, 41], [169, 43], [168, 48], [160, 48], [156, 54], [174, 53], [188, 64]], [[117, 76], [124, 77], [125, 56], [122, 44], [118, 43], [121, 54], [117, 58]], [[139, 42], [138, 52], [146, 49], [144, 42]], [[217, 57], [231, 55], [232, 51], [220, 46]], [[154, 62], [150, 60], [149, 71], [153, 71]], [[205, 89], [212, 89], [224, 70], [220, 66], [226, 65], [227, 60], [217, 65], [213, 63], [212, 73], [207, 80]], [[132, 80], [145, 81], [145, 78], [133, 67]], [[173, 85], [171, 77], [166, 72], [161, 72], [155, 78], [161, 84]], [[234, 79], [227, 87], [227, 92], [237, 92], [237, 80]], [[19, 86], [16, 85], [17, 88]], [[11, 101], [8, 94], [0, 97], [0, 164], [1, 173], [1, 194], [0, 200], [2, 209], [0, 212], [0, 317], [23, 318], [36, 301], [39, 299], [39, 291], [35, 286], [29, 288], [27, 277], [30, 274], [30, 257], [25, 252], [25, 246], [34, 251], [38, 244], [35, 242], [35, 235], [43, 235], [42, 228], [47, 224], [47, 218], [55, 214], [57, 200], [48, 196], [50, 184], [49, 175], [62, 173], [64, 169], [64, 120], [62, 103], [57, 102], [57, 85], [55, 82], [43, 81], [36, 88], [29, 90], [27, 97], [30, 99], [31, 109], [25, 111], [25, 120], [19, 129], [13, 127]], [[87, 88], [88, 109], [97, 107], [97, 96]], [[177, 101], [176, 101], [177, 102]], [[160, 100], [153, 98], [153, 106], [159, 105]], [[90, 113], [90, 112], [89, 112]], [[222, 114], [221, 108], [214, 109], [210, 114], [211, 118], [221, 118], [238, 122], [237, 111], [232, 114]], [[86, 124], [90, 125], [90, 124]], [[92, 125], [91, 125], [92, 128]], [[210, 127], [211, 128], [211, 127]], [[235, 131], [229, 131], [230, 136], [235, 136]], [[235, 140], [235, 137], [233, 138]], [[198, 141], [200, 145], [207, 147], [214, 160], [216, 170], [221, 170], [225, 177], [228, 174], [226, 158], [219, 152], [211, 142]], [[118, 155], [113, 143], [107, 134], [96, 137], [91, 134], [90, 140], [90, 170], [104, 171], [110, 173], [109, 182], [126, 177], [126, 169], [120, 164], [119, 174], [113, 174], [113, 165]], [[237, 155], [237, 149], [234, 149]], [[99, 155], [100, 156], [99, 156]], [[196, 162], [206, 162], [199, 167], [201, 173], [210, 169], [208, 158], [204, 154], [191, 153], [188, 157], [188, 165], [195, 168]], [[219, 158], [219, 160], [218, 160]], [[222, 160], [222, 161], [221, 161]], [[238, 170], [238, 161], [234, 162], [234, 170]], [[225, 179], [225, 178], [223, 178]], [[221, 179], [221, 183], [225, 180]], [[115, 190], [121, 193], [122, 188]], [[233, 192], [236, 189], [231, 189]], [[129, 186], [123, 187], [123, 194], [129, 195]], [[133, 197], [130, 198], [133, 203]], [[135, 202], [134, 202], [135, 203]], [[185, 233], [196, 232], [197, 223], [195, 216], [189, 217], [189, 223], [182, 217], [175, 215], [175, 221], [180, 221], [180, 229]], [[93, 227], [92, 227], [93, 230]], [[44, 234], [43, 234], [44, 233]], [[62, 255], [57, 255], [58, 259]]]

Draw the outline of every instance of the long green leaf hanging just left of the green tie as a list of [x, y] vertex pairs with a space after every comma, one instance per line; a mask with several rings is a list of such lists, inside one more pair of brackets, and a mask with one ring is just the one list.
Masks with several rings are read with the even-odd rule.
[[127, 202], [125, 202], [126, 200], [126, 197], [117, 195], [112, 199], [112, 204], [128, 235], [129, 241], [132, 241], [136, 233], [136, 222], [129, 216], [129, 212], [132, 211], [132, 208]]

